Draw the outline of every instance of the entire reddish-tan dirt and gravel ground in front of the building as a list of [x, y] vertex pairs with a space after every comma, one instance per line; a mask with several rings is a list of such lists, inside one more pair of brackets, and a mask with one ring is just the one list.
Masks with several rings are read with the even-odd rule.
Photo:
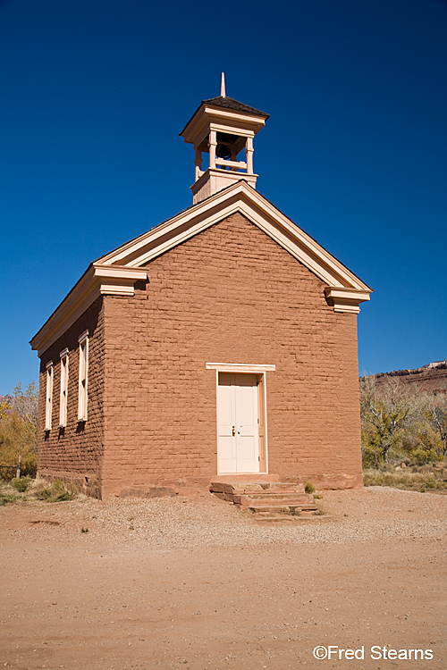
[[321, 502], [285, 523], [206, 492], [0, 508], [0, 667], [445, 670], [447, 496]]

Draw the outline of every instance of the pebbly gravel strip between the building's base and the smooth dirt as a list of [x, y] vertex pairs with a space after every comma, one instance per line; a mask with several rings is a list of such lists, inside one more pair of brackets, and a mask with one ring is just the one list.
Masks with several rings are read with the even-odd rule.
[[[153, 550], [257, 547], [266, 543], [381, 542], [395, 537], [444, 540], [447, 497], [370, 487], [324, 491], [325, 515], [290, 522], [257, 522], [209, 493], [177, 498], [92, 498], [3, 507], [9, 540], [113, 542]], [[20, 514], [18, 512], [20, 511]]]

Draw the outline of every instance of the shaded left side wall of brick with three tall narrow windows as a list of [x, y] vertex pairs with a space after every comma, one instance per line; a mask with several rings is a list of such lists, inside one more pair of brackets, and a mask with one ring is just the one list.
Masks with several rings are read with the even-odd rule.
[[[79, 336], [89, 329], [88, 421], [78, 423]], [[104, 393], [104, 313], [102, 298], [46, 350], [40, 363], [38, 474], [49, 480], [74, 482], [92, 496], [101, 495]], [[69, 349], [67, 425], [59, 429], [60, 353]], [[52, 429], [44, 431], [46, 363], [53, 360]]]

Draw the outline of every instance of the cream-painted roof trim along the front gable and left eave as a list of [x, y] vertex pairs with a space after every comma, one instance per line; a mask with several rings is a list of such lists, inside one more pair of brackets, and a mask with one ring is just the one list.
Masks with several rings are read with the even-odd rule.
[[90, 264], [31, 339], [32, 348], [38, 349], [41, 356], [97, 297], [133, 296], [135, 282], [147, 279], [148, 265], [154, 258], [236, 213], [245, 216], [314, 272], [325, 283], [327, 303], [335, 312], [358, 313], [359, 303], [369, 300], [372, 289], [367, 284], [246, 181], [240, 180]]

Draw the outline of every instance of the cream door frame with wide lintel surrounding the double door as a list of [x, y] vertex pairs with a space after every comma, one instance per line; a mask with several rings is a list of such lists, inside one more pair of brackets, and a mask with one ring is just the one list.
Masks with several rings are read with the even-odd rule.
[[246, 363], [207, 363], [207, 370], [215, 370], [215, 412], [216, 412], [216, 456], [217, 474], [219, 472], [218, 455], [218, 403], [217, 394], [219, 386], [219, 373], [246, 373], [257, 374], [257, 413], [259, 420], [258, 449], [259, 449], [259, 473], [268, 474], [268, 448], [267, 448], [267, 391], [266, 373], [274, 372], [275, 365], [270, 364], [246, 364]]

